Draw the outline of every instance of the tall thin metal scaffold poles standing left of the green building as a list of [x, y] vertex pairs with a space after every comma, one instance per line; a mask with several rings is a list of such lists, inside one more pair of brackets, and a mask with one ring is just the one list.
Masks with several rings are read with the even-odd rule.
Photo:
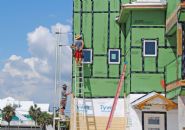
[[[54, 102], [54, 118], [53, 118], [53, 127], [55, 129], [55, 126], [58, 127], [58, 130], [65, 130], [64, 123], [69, 122], [70, 120], [68, 118], [66, 118], [66, 115], [62, 115], [60, 109], [61, 109], [61, 104], [60, 104], [60, 100], [61, 100], [61, 92], [62, 92], [62, 84], [64, 84], [65, 82], [62, 80], [62, 54], [63, 54], [63, 47], [65, 47], [65, 49], [69, 49], [68, 45], [68, 36], [72, 33], [71, 32], [62, 32], [62, 29], [59, 28], [56, 32], [55, 32], [55, 39], [56, 39], [56, 47], [55, 47], [55, 102]], [[71, 88], [68, 88], [68, 90], [70, 90]], [[71, 90], [70, 90], [71, 91]], [[66, 111], [65, 111], [66, 112]], [[70, 112], [68, 111], [68, 113], [66, 114], [70, 114]], [[57, 124], [56, 124], [57, 123]], [[66, 127], [66, 126], [65, 126]]]

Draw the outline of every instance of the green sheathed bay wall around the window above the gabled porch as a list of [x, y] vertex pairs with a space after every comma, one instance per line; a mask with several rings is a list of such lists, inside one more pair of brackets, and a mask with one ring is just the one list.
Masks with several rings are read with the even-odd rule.
[[[167, 46], [165, 40], [165, 24], [165, 11], [131, 11], [125, 28], [128, 62], [125, 89], [128, 94], [164, 92], [160, 84], [164, 79], [164, 66], [175, 58], [171, 45]], [[143, 39], [158, 41], [157, 57], [143, 56]], [[165, 57], [168, 59], [164, 60]]]

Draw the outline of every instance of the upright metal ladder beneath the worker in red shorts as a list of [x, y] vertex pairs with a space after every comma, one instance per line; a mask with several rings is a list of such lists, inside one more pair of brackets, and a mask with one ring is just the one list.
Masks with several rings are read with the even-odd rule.
[[[80, 122], [81, 115], [85, 116], [85, 105], [84, 105], [84, 72], [83, 72], [83, 63], [77, 65], [75, 62], [75, 93], [74, 93], [74, 130], [80, 130], [82, 127], [81, 124], [85, 122]], [[81, 100], [81, 101], [79, 101]], [[79, 105], [81, 105], [79, 107]]]

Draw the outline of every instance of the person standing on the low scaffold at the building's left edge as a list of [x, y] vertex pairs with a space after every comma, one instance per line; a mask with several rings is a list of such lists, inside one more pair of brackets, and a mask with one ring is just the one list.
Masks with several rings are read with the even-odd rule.
[[67, 96], [71, 94], [70, 93], [67, 93], [67, 85], [64, 84], [62, 86], [62, 92], [61, 92], [61, 102], [60, 102], [60, 108], [61, 108], [61, 114], [64, 115], [64, 110], [66, 108], [66, 102], [67, 102]]

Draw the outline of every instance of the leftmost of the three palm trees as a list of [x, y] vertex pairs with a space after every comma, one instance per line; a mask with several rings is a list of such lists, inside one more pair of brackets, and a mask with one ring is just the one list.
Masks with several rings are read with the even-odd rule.
[[8, 122], [8, 128], [10, 130], [10, 122], [13, 116], [15, 116], [15, 108], [10, 105], [4, 107], [2, 110], [2, 115], [3, 119]]

